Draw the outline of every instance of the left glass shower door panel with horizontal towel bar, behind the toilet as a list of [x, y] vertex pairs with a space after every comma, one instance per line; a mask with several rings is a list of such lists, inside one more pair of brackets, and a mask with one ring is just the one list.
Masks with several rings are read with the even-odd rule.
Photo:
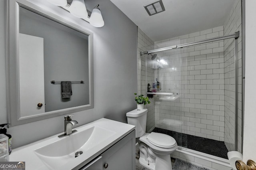
[[[170, 46], [158, 44], [157, 47]], [[182, 102], [181, 91], [184, 89], [181, 76], [181, 49], [171, 49], [152, 53], [146, 57], [147, 95], [154, 102], [155, 128], [153, 132], [160, 132], [172, 136], [178, 146], [186, 146], [182, 140]]]

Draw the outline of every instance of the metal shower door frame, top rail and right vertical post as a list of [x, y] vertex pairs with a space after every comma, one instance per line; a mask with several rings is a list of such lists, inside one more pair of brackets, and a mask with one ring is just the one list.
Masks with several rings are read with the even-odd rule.
[[[235, 32], [234, 34], [230, 34], [230, 35], [226, 35], [226, 36], [209, 38], [206, 40], [200, 40], [200, 41], [190, 42], [190, 43], [183, 43], [183, 44], [179, 44], [179, 45], [172, 45], [169, 47], [163, 47], [163, 48], [152, 49], [149, 51], [140, 52], [140, 55], [144, 55], [144, 54], [151, 54], [151, 53], [156, 53], [156, 52], [160, 52], [160, 51], [166, 51], [166, 50], [170, 50], [170, 49], [198, 45], [198, 44], [202, 44], [202, 43], [226, 40], [226, 39], [230, 39], [230, 38], [235, 39], [235, 41], [234, 41], [234, 43], [235, 43], [235, 45], [234, 45], [234, 51], [235, 51], [234, 52], [234, 65], [235, 65], [235, 82], [236, 82], [236, 85], [235, 85], [235, 90], [236, 90], [236, 92], [235, 92], [235, 123], [236, 123], [236, 125], [235, 125], [235, 149], [236, 149], [236, 151], [238, 151], [238, 38], [239, 38], [239, 36], [240, 36], [240, 32], [238, 31], [238, 32]], [[243, 87], [243, 81], [242, 81], [242, 87]], [[242, 95], [244, 95], [244, 93]], [[242, 97], [242, 103], [243, 103], [243, 97]], [[243, 120], [242, 120], [242, 127], [243, 126], [244, 125], [243, 125]], [[243, 137], [243, 132], [242, 132], [242, 137]]]

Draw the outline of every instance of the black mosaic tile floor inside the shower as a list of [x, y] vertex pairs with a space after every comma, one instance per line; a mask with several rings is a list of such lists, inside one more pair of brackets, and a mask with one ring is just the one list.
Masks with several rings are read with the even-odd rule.
[[192, 136], [190, 134], [174, 132], [171, 130], [165, 130], [162, 128], [154, 128], [152, 132], [158, 132], [172, 136], [176, 140], [178, 146], [228, 159], [228, 149], [226, 148], [224, 142]]

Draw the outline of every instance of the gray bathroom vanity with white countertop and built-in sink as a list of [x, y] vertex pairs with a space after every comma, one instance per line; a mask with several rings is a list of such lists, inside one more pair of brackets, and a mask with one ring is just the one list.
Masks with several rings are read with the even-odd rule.
[[135, 170], [135, 126], [102, 118], [74, 129], [15, 148], [9, 161], [26, 170]]

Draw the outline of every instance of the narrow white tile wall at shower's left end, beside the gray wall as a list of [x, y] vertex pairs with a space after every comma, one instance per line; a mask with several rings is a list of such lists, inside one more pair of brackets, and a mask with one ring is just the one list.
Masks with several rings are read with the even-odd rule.
[[[138, 95], [142, 94], [146, 96], [146, 57], [147, 55], [140, 55], [141, 51], [148, 51], [153, 49], [154, 42], [138, 28]], [[150, 74], [147, 74], [150, 77]], [[134, 92], [135, 93], [135, 92]], [[155, 128], [155, 105], [154, 98], [150, 99], [151, 103], [145, 107], [148, 109], [147, 115], [147, 132], [151, 132]]]

